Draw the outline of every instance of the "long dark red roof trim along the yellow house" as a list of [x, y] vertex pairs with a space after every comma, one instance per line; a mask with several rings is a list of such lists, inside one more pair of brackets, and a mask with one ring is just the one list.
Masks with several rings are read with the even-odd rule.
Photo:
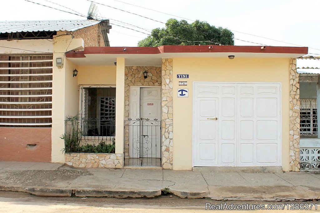
[[308, 47], [274, 47], [266, 46], [180, 46], [165, 45], [159, 47], [85, 47], [84, 51], [73, 51], [67, 58], [85, 58], [86, 54], [160, 54], [160, 53], [197, 53], [197, 52], [244, 52], [244, 53], [293, 53], [308, 54]]

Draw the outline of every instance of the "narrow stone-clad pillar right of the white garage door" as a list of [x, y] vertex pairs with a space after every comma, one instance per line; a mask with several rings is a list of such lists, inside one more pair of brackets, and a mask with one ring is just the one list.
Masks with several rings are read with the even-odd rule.
[[290, 59], [290, 171], [300, 171], [300, 86], [297, 60]]

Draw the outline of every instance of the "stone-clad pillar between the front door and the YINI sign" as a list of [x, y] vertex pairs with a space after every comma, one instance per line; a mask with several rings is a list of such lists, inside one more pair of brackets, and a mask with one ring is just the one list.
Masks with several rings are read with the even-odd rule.
[[173, 101], [172, 101], [172, 59], [162, 59], [162, 168], [173, 165]]

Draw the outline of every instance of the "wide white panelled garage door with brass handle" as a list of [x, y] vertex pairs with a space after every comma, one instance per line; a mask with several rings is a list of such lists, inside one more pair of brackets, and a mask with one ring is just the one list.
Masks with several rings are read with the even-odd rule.
[[193, 166], [280, 166], [280, 83], [193, 84]]

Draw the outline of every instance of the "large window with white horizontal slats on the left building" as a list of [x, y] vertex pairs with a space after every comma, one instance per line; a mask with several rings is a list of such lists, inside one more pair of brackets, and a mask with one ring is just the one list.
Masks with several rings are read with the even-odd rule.
[[50, 127], [52, 54], [0, 55], [0, 126]]

